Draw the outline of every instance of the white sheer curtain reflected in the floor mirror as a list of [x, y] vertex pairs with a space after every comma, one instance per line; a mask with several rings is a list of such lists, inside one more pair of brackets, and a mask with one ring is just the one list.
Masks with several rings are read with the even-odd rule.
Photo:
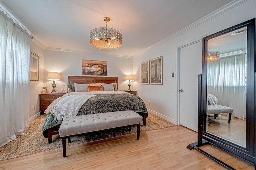
[[246, 119], [246, 54], [208, 62], [207, 93], [215, 95], [219, 105], [234, 108], [232, 116]]

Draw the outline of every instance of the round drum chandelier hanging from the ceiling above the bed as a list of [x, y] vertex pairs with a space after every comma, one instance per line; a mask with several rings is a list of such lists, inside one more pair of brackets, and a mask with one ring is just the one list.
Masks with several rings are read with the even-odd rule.
[[122, 46], [122, 34], [113, 28], [108, 28], [110, 18], [104, 17], [106, 28], [95, 28], [90, 32], [91, 45], [99, 49], [117, 49]]

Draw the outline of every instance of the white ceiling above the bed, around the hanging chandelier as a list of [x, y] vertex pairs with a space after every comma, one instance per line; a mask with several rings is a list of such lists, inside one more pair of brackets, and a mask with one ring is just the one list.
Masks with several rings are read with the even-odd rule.
[[[66, 49], [132, 57], [228, 4], [231, 0], [0, 0], [44, 49]], [[90, 31], [105, 27], [122, 33], [122, 47], [97, 49]]]

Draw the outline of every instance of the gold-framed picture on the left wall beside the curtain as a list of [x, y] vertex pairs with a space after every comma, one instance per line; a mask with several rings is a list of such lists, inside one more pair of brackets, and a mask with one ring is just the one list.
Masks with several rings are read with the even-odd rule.
[[30, 52], [30, 80], [39, 80], [39, 56]]

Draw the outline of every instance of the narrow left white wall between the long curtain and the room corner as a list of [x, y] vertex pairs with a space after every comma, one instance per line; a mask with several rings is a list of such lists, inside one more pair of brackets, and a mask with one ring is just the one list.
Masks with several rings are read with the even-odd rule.
[[31, 121], [40, 114], [40, 97], [38, 94], [41, 93], [44, 86], [44, 50], [31, 40], [30, 51], [39, 56], [39, 81], [29, 82], [29, 117]]

